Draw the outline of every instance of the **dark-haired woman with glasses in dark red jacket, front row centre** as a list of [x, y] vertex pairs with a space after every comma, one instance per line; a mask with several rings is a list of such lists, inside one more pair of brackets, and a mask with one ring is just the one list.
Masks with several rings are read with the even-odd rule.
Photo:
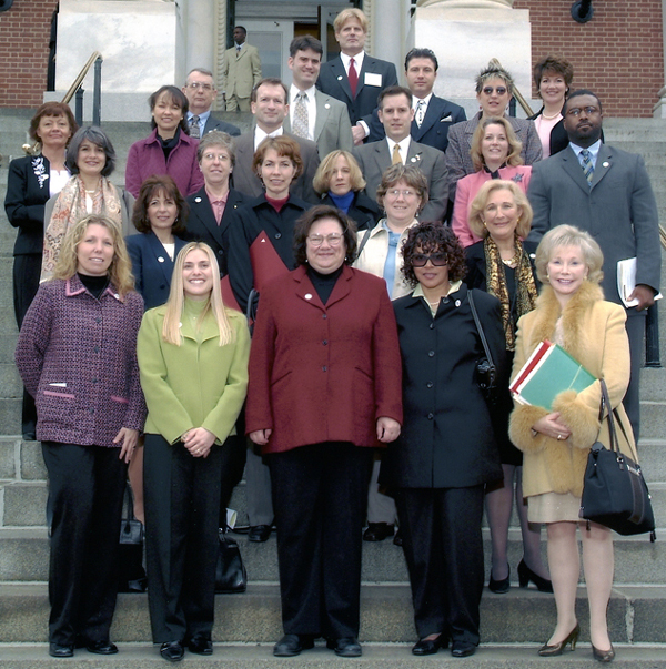
[[294, 231], [296, 270], [264, 287], [250, 353], [246, 429], [266, 455], [285, 636], [361, 655], [361, 530], [373, 447], [402, 422], [395, 317], [383, 280], [353, 270], [356, 230], [332, 206]]

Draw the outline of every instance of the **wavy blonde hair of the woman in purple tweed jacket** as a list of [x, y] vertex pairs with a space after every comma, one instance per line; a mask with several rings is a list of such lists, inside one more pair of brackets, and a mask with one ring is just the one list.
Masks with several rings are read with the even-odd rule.
[[113, 240], [113, 260], [109, 266], [108, 276], [113, 287], [121, 297], [134, 290], [134, 277], [132, 276], [132, 261], [128, 254], [120, 227], [108, 216], [89, 214], [84, 216], [64, 235], [60, 255], [53, 270], [53, 278], [71, 278], [79, 267], [78, 247], [90, 225], [101, 225], [111, 233]]

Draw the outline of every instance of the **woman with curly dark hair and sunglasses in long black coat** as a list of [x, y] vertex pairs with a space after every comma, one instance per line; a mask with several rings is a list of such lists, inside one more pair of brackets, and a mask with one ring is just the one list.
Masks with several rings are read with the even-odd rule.
[[[382, 460], [380, 483], [395, 494], [410, 571], [416, 656], [478, 645], [483, 591], [484, 486], [502, 477], [486, 402], [475, 378], [483, 357], [470, 306], [464, 253], [435, 223], [410, 230], [405, 280], [415, 286], [394, 304], [403, 359], [403, 430]], [[500, 303], [471, 291], [500, 374], [506, 351]]]

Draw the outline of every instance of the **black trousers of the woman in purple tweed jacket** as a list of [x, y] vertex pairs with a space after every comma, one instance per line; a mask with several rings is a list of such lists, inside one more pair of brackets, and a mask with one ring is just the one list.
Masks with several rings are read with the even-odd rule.
[[122, 496], [120, 448], [43, 442], [49, 472], [49, 641], [105, 641], [115, 610]]

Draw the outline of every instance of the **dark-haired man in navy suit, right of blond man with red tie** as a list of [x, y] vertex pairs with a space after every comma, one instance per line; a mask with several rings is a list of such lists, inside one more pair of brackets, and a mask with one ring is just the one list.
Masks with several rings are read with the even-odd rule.
[[[446, 151], [448, 145], [448, 129], [454, 123], [466, 121], [465, 110], [433, 93], [437, 79], [440, 63], [430, 49], [412, 49], [405, 58], [405, 78], [412, 91], [412, 139], [440, 151]], [[370, 126], [370, 142], [376, 142], [386, 136], [384, 125], [380, 122], [377, 110], [373, 112]]]

